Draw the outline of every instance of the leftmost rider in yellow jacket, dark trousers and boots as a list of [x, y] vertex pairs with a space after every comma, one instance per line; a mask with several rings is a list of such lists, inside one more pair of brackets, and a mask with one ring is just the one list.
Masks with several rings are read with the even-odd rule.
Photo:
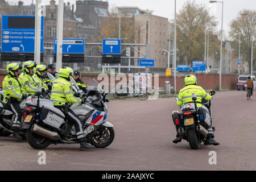
[[27, 98], [27, 94], [22, 89], [22, 85], [18, 81], [19, 69], [22, 66], [18, 63], [8, 64], [6, 67], [7, 76], [3, 79], [3, 93], [5, 94], [5, 103], [11, 107], [15, 113], [15, 119], [11, 130], [14, 131], [13, 137], [22, 139], [18, 132], [20, 131], [20, 122], [22, 119], [22, 110], [20, 109], [20, 101]]

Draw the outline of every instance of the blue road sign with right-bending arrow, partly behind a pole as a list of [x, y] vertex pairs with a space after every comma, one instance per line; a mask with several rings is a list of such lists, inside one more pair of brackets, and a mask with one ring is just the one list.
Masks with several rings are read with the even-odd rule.
[[[57, 53], [57, 39], [54, 39], [53, 53]], [[84, 39], [63, 39], [62, 53], [84, 53]]]

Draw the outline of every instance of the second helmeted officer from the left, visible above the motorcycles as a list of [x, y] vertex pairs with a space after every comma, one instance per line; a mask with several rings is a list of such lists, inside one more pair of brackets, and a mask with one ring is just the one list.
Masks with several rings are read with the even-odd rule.
[[19, 82], [25, 92], [34, 95], [36, 93], [36, 88], [38, 88], [34, 78], [32, 77], [34, 75], [34, 67], [36, 67], [36, 63], [31, 60], [26, 61], [23, 63], [22, 67], [23, 72], [19, 76]]

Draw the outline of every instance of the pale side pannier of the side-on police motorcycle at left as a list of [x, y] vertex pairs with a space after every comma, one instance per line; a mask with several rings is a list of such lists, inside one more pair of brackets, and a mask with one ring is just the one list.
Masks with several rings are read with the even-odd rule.
[[55, 107], [43, 106], [40, 113], [40, 120], [56, 129], [59, 129], [65, 123], [65, 115]]

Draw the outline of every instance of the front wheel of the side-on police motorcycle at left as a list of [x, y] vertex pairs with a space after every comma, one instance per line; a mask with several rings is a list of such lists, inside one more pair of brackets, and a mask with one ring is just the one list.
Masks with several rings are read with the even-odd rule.
[[115, 132], [113, 127], [105, 127], [100, 135], [94, 135], [90, 142], [97, 148], [108, 147], [114, 140]]

